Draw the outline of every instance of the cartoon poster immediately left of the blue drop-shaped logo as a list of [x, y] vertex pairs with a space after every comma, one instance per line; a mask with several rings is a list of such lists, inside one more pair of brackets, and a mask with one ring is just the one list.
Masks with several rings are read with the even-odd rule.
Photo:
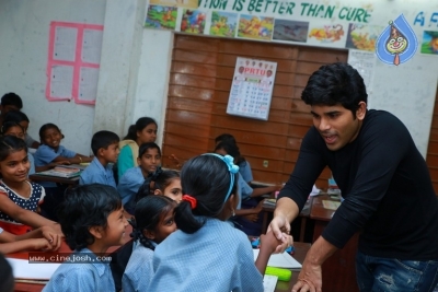
[[376, 42], [383, 26], [350, 23], [348, 25], [346, 48], [374, 51]]

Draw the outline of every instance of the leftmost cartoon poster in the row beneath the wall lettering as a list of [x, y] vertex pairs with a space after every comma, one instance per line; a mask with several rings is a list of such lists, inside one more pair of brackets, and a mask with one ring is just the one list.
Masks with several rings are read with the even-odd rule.
[[145, 27], [175, 30], [177, 9], [173, 7], [149, 5]]

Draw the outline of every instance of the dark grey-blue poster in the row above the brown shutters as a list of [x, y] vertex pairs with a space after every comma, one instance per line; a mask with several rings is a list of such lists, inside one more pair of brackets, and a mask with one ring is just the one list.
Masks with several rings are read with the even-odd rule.
[[309, 22], [275, 20], [273, 39], [306, 43]]

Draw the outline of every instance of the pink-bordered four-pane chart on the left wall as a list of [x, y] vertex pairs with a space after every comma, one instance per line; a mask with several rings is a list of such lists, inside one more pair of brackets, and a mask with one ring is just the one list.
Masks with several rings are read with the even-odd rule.
[[103, 26], [51, 22], [49, 33], [46, 97], [95, 104], [101, 62]]

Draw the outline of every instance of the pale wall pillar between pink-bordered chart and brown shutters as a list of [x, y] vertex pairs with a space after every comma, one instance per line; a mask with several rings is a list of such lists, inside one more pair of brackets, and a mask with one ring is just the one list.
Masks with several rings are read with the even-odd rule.
[[146, 0], [107, 2], [93, 131], [123, 138], [139, 117], [149, 116], [159, 125], [161, 144], [173, 35], [142, 27], [146, 7]]

